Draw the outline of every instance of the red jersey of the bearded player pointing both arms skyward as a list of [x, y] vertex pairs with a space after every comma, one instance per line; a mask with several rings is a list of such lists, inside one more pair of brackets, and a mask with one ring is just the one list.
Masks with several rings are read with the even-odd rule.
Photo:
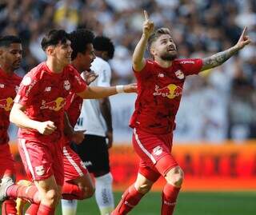
[[138, 81], [138, 97], [130, 127], [147, 133], [171, 133], [186, 76], [198, 74], [201, 68], [202, 59], [174, 60], [169, 68], [146, 61], [142, 71], [134, 72]]

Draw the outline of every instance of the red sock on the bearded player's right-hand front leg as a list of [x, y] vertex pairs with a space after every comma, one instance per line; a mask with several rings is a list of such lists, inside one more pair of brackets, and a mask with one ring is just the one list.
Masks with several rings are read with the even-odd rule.
[[172, 215], [176, 205], [178, 192], [181, 188], [166, 184], [162, 190], [162, 210], [161, 215]]

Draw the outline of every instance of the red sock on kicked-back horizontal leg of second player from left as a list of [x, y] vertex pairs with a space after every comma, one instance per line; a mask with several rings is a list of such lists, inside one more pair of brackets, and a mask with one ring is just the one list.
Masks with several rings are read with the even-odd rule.
[[7, 197], [22, 198], [31, 203], [40, 204], [38, 189], [35, 185], [11, 185], [6, 190]]

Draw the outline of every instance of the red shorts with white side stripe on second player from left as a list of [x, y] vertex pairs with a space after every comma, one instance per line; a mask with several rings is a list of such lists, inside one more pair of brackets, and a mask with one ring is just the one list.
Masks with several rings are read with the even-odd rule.
[[64, 170], [61, 141], [45, 143], [18, 139], [18, 150], [30, 180], [42, 181], [54, 175], [56, 183], [63, 185]]

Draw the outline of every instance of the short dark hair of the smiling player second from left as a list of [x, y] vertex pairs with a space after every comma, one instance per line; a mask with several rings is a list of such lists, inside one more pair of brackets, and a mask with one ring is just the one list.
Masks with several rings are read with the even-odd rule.
[[69, 34], [65, 30], [50, 30], [48, 34], [42, 38], [42, 50], [46, 50], [48, 46], [56, 46], [59, 42], [65, 44], [69, 40]]

